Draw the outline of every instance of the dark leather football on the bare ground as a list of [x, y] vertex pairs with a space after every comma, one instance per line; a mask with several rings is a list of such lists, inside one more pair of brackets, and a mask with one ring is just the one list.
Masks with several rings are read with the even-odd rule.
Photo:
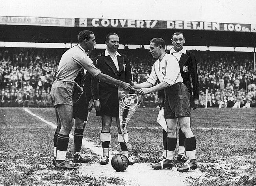
[[129, 160], [125, 155], [117, 154], [111, 159], [111, 166], [118, 172], [126, 170], [129, 166]]

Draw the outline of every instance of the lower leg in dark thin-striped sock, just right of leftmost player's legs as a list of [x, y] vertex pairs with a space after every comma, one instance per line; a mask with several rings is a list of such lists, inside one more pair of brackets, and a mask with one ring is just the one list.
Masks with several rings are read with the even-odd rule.
[[74, 119], [74, 163], [88, 163], [90, 159], [82, 157], [80, 154], [82, 141], [83, 141], [83, 131], [84, 122], [83, 120], [76, 117]]

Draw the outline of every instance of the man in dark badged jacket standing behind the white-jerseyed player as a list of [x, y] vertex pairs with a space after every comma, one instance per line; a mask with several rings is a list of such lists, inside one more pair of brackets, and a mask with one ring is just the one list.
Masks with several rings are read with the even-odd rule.
[[[189, 90], [190, 93], [190, 104], [193, 107], [193, 110], [198, 107], [198, 98], [199, 98], [199, 90], [198, 90], [198, 74], [197, 74], [197, 61], [195, 55], [187, 51], [183, 48], [185, 43], [185, 38], [183, 33], [176, 32], [172, 35], [172, 43], [173, 48], [170, 50], [170, 54], [174, 55], [180, 64], [180, 73], [183, 78], [183, 82]], [[191, 79], [192, 79], [192, 86], [191, 86]], [[161, 107], [163, 105], [164, 100], [164, 92], [158, 92], [158, 104]], [[186, 162], [187, 158], [185, 155], [185, 135], [182, 133], [181, 129], [179, 130], [179, 151], [177, 160], [180, 162]], [[163, 157], [158, 159], [165, 159], [166, 154], [166, 143], [167, 143], [167, 134], [163, 129]]]

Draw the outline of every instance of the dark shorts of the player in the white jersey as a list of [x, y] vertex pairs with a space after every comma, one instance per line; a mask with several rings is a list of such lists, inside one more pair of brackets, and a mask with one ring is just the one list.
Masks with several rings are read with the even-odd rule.
[[164, 90], [165, 102], [163, 106], [163, 117], [165, 119], [190, 117], [190, 95], [184, 83], [178, 82]]

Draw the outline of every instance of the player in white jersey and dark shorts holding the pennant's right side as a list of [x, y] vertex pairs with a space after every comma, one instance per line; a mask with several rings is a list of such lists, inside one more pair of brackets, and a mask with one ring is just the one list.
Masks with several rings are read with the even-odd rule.
[[[153, 58], [158, 58], [152, 66], [152, 71], [146, 82], [133, 84], [140, 89], [140, 94], [148, 94], [164, 89], [164, 118], [167, 123], [167, 151], [166, 159], [152, 165], [154, 169], [173, 168], [173, 153], [177, 144], [176, 128], [178, 121], [186, 137], [185, 149], [187, 161], [177, 170], [187, 172], [197, 168], [196, 139], [190, 128], [190, 99], [189, 90], [183, 83], [178, 60], [174, 55], [165, 53], [165, 41], [162, 38], [153, 38], [150, 41], [150, 51]], [[154, 84], [159, 80], [160, 83]]]

